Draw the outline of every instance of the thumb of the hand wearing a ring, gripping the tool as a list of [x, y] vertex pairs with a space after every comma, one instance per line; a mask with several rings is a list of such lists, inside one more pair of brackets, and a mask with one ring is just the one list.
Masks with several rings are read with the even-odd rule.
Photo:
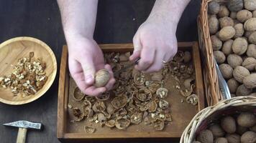
[[133, 39], [133, 53], [132, 55], [129, 57], [129, 60], [134, 61], [135, 59], [140, 57], [140, 51], [142, 50], [142, 44], [140, 42], [140, 38], [139, 36], [137, 36], [137, 34], [134, 35]]

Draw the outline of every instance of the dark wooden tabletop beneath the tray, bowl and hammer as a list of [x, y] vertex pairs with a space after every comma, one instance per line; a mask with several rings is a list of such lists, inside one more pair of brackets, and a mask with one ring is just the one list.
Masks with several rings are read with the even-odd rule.
[[[150, 14], [153, 4], [152, 0], [100, 0], [96, 41], [99, 44], [132, 42], [133, 35]], [[178, 26], [178, 41], [197, 39], [199, 7], [199, 0], [191, 0]], [[32, 36], [45, 41], [54, 51], [59, 69], [65, 37], [55, 0], [1, 0], [0, 42], [17, 36]], [[59, 142], [56, 138], [57, 97], [58, 74], [50, 90], [37, 101], [21, 106], [0, 103], [0, 124], [21, 119], [42, 122], [45, 129], [42, 132], [29, 131], [27, 142]], [[0, 125], [0, 142], [15, 142], [17, 131], [17, 128]]]

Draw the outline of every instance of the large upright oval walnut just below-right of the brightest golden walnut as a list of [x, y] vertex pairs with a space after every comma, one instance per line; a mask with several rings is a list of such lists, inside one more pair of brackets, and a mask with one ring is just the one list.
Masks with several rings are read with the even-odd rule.
[[234, 54], [244, 54], [247, 50], [248, 42], [246, 39], [238, 37], [237, 39], [234, 39], [234, 42], [232, 44], [232, 50]]

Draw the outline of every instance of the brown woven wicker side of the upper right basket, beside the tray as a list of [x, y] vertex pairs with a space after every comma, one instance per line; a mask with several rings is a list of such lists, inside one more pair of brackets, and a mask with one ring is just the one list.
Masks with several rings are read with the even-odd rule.
[[[214, 64], [213, 48], [211, 45], [209, 26], [208, 26], [208, 3], [211, 0], [202, 0], [200, 15], [198, 16], [198, 41], [201, 48], [201, 55], [204, 58], [204, 86], [206, 100], [209, 106], [212, 106], [223, 98], [219, 89], [219, 82]], [[215, 0], [216, 1], [216, 0]], [[224, 2], [225, 0], [219, 0]]]

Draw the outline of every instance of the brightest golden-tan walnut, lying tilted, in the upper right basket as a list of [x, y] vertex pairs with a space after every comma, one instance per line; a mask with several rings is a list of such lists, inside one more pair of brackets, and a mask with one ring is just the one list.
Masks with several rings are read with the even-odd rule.
[[221, 41], [227, 41], [232, 39], [234, 34], [236, 34], [236, 31], [232, 26], [225, 26], [219, 31], [219, 39]]

